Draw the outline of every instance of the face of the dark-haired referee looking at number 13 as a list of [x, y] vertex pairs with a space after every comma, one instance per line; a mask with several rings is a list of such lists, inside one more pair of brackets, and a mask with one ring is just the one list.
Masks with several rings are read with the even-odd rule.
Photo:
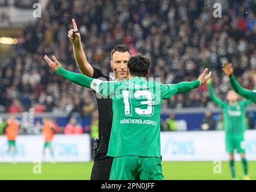
[[114, 71], [115, 78], [125, 78], [127, 79], [127, 64], [130, 59], [129, 52], [114, 52], [112, 60], [110, 61], [111, 67]]

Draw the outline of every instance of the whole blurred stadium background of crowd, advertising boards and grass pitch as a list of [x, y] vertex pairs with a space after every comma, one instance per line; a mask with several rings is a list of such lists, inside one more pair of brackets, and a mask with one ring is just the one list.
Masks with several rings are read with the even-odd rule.
[[[88, 61], [106, 74], [111, 72], [111, 50], [127, 44], [132, 53], [150, 56], [151, 77], [160, 77], [163, 83], [195, 80], [207, 67], [213, 71], [216, 94], [225, 99], [230, 84], [222, 74], [221, 61], [229, 59], [240, 84], [252, 89], [254, 80], [249, 74], [256, 70], [256, 3], [218, 2], [220, 18], [213, 16], [215, 1], [210, 0], [0, 0], [0, 118], [15, 113], [20, 123], [15, 163], [10, 155], [1, 155], [7, 143], [0, 136], [0, 179], [90, 179], [96, 99], [90, 90], [57, 77], [43, 60], [44, 55], [54, 54], [64, 68], [79, 73], [67, 37], [73, 18]], [[212, 115], [206, 118], [209, 111]], [[246, 115], [249, 175], [256, 179], [254, 104]], [[49, 163], [43, 163], [42, 173], [36, 174], [33, 169], [43, 149], [43, 117], [52, 118], [58, 127], [53, 140], [57, 163], [47, 157]], [[71, 118], [82, 134], [65, 134]], [[230, 179], [222, 118], [206, 86], [163, 101], [165, 179]], [[214, 173], [220, 161], [222, 173]], [[237, 172], [242, 175], [242, 168], [237, 167]]]

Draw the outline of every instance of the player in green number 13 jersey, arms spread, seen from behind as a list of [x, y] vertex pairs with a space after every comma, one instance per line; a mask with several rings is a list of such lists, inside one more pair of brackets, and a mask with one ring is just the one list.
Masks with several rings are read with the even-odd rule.
[[162, 99], [189, 91], [207, 82], [207, 69], [193, 82], [165, 85], [147, 81], [150, 61], [135, 55], [127, 64], [129, 80], [103, 82], [64, 70], [53, 56], [49, 66], [70, 81], [111, 97], [113, 122], [108, 156], [114, 157], [110, 179], [163, 179], [160, 160], [160, 106]]

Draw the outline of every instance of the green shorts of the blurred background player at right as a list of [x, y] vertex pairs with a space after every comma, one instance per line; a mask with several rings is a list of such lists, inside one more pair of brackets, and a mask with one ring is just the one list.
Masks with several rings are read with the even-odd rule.
[[226, 135], [226, 149], [229, 154], [234, 153], [234, 149], [239, 154], [245, 153], [245, 138], [241, 135]]

